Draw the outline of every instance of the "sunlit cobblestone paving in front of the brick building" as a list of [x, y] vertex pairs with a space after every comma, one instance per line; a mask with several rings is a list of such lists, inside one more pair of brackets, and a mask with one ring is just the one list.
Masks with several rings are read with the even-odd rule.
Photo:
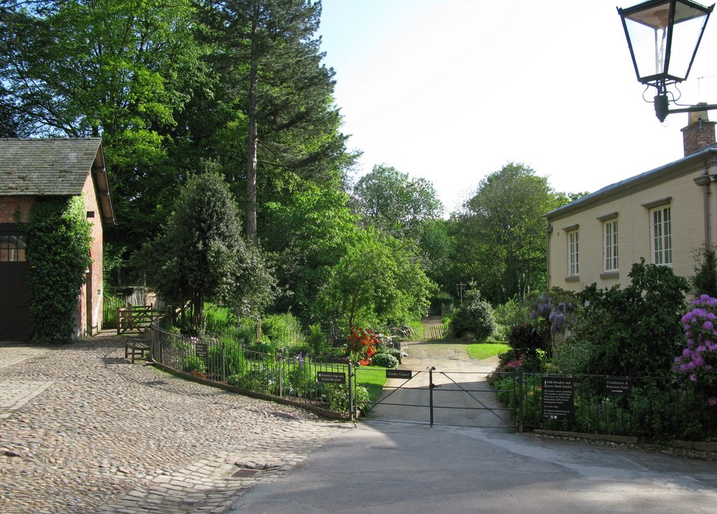
[[224, 513], [345, 426], [123, 357], [104, 334], [1, 370], [29, 392], [0, 417], [0, 512]]

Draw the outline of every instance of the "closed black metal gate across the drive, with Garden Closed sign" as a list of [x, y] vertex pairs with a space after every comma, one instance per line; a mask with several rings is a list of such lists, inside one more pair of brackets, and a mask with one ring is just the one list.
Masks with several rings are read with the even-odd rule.
[[498, 402], [487, 382], [488, 372], [426, 371], [406, 369], [355, 369], [354, 385], [367, 388], [371, 374], [385, 373], [386, 384], [375, 402], [369, 402], [371, 420], [450, 425], [463, 427], [515, 428], [512, 410]]

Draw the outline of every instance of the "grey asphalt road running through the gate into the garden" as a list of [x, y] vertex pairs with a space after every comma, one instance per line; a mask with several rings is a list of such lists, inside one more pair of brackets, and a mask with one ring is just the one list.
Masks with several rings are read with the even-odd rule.
[[[467, 359], [462, 346], [409, 346], [414, 378], [373, 417], [340, 435], [275, 483], [257, 484], [234, 514], [714, 514], [717, 463], [634, 447], [516, 435], [488, 409], [427, 407], [433, 365], [437, 407], [498, 406], [485, 388], [495, 362]], [[420, 373], [418, 373], [420, 372]], [[445, 372], [445, 374], [444, 374]], [[397, 386], [404, 380], [392, 380]], [[457, 382], [455, 384], [454, 382]], [[449, 389], [454, 389], [449, 392]], [[384, 394], [385, 396], [385, 394]], [[475, 399], [472, 397], [475, 396]], [[483, 425], [483, 428], [447, 425]], [[510, 423], [508, 423], [510, 425]], [[493, 427], [493, 428], [486, 428]]]

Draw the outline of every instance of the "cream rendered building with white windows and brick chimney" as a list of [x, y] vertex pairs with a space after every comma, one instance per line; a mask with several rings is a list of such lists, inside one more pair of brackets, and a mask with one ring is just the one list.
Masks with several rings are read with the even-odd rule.
[[706, 112], [693, 113], [683, 137], [682, 159], [546, 215], [549, 287], [625, 286], [640, 258], [694, 275], [695, 250], [717, 241], [715, 122]]

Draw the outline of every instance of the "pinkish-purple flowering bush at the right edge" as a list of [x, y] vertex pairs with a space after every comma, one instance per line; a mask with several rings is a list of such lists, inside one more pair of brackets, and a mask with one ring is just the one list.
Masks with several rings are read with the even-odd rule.
[[[692, 302], [692, 310], [682, 317], [687, 344], [675, 357], [673, 370], [692, 382], [713, 387], [717, 383], [717, 298], [703, 294]], [[714, 389], [712, 389], [714, 390]], [[710, 405], [717, 405], [717, 397], [709, 397]]]

